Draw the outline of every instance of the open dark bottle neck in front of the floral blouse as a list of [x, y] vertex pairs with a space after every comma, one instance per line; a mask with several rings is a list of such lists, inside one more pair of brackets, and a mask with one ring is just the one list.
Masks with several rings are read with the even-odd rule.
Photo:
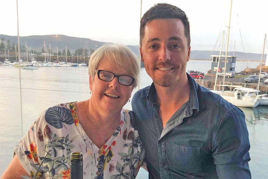
[[83, 156], [81, 152], [71, 153], [70, 179], [83, 179]]

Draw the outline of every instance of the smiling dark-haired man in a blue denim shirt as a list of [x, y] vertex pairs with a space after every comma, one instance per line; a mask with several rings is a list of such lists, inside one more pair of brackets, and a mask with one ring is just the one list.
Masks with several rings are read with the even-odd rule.
[[142, 17], [140, 53], [151, 86], [132, 99], [149, 178], [251, 178], [243, 112], [186, 73], [186, 14], [156, 4]]

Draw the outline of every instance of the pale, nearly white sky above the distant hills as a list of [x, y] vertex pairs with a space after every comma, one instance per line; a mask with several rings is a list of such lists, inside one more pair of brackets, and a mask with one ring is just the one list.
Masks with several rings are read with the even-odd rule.
[[[191, 50], [219, 51], [225, 31], [225, 51], [231, 0], [18, 0], [19, 35], [62, 34], [139, 45], [140, 16], [159, 2], [187, 14]], [[0, 5], [0, 34], [16, 36], [16, 0], [1, 0]], [[268, 1], [233, 0], [228, 51], [261, 54], [268, 33], [267, 12]]]

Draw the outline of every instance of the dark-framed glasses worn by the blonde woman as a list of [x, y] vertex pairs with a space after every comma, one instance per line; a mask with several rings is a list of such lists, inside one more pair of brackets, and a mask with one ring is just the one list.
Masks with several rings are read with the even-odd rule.
[[113, 78], [117, 77], [119, 84], [124, 86], [131, 86], [134, 82], [134, 78], [126, 75], [116, 75], [112, 72], [105, 71], [105, 70], [95, 70], [95, 72], [98, 74], [98, 78], [100, 80], [110, 82], [113, 80]]

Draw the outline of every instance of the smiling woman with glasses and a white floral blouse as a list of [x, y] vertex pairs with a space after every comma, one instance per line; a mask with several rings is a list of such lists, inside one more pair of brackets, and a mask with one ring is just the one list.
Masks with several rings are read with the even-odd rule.
[[21, 175], [67, 179], [69, 156], [78, 151], [83, 154], [84, 178], [135, 178], [144, 150], [132, 127], [132, 111], [122, 107], [137, 86], [138, 75], [139, 62], [126, 46], [106, 44], [97, 49], [89, 62], [91, 98], [53, 106], [39, 115], [15, 147], [2, 179]]

